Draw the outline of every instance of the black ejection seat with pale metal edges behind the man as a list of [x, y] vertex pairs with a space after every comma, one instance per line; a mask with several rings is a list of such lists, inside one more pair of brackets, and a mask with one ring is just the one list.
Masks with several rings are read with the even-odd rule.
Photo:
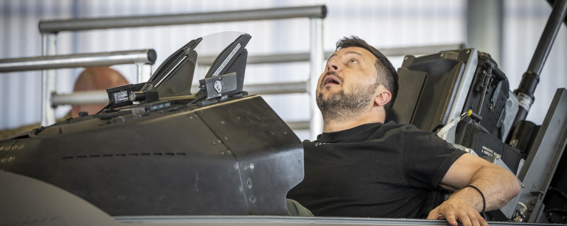
[[[399, 91], [386, 122], [437, 132], [471, 109], [482, 120], [466, 118], [442, 138], [472, 148], [481, 157], [502, 157], [513, 172], [518, 169], [525, 156], [503, 143], [518, 102], [509, 90], [506, 76], [489, 54], [468, 48], [421, 57], [408, 55], [397, 74]], [[421, 217], [425, 218], [441, 204], [447, 194], [448, 191], [431, 191], [422, 206]]]

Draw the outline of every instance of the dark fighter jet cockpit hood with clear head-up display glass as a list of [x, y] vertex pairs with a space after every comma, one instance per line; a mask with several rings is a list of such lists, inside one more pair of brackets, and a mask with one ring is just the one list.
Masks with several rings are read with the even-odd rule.
[[250, 39], [191, 40], [147, 82], [107, 89], [98, 114], [3, 139], [3, 181], [56, 189], [61, 203], [76, 195], [75, 204], [111, 216], [285, 215], [303, 148], [262, 97], [243, 90]]

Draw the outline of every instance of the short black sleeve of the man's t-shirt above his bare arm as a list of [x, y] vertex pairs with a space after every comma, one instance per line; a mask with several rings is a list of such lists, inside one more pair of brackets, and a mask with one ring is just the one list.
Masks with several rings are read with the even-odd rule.
[[437, 134], [412, 126], [403, 133], [402, 157], [409, 186], [440, 189], [439, 183], [451, 165], [466, 153], [451, 146]]

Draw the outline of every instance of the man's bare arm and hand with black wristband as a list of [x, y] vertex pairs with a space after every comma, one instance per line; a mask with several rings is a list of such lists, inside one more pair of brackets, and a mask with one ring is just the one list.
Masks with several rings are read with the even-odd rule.
[[456, 220], [464, 226], [488, 225], [479, 215], [483, 210], [483, 198], [486, 199], [486, 210], [497, 210], [503, 207], [511, 198], [519, 193], [519, 184], [515, 176], [498, 165], [489, 163], [480, 157], [464, 154], [448, 169], [440, 186], [448, 190], [457, 190], [439, 207], [430, 212], [428, 219], [446, 219], [451, 225], [457, 225]]

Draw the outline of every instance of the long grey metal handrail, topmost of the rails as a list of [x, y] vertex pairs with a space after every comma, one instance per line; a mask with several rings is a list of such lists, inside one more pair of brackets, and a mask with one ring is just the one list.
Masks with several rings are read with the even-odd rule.
[[200, 12], [193, 14], [121, 16], [109, 18], [81, 18], [69, 20], [41, 20], [41, 33], [60, 31], [82, 31], [91, 29], [151, 27], [162, 25], [200, 24], [235, 22], [249, 20], [275, 20], [289, 18], [325, 18], [327, 7], [301, 6], [282, 8], [262, 8], [256, 10], [237, 10], [221, 12]]

